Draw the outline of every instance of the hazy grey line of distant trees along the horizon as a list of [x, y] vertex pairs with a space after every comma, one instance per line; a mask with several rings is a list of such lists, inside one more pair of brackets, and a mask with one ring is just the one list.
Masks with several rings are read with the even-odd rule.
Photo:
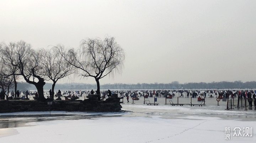
[[[26, 87], [27, 86], [27, 87]], [[51, 89], [52, 84], [46, 83], [44, 89]], [[18, 89], [27, 89], [27, 90], [36, 90], [35, 87], [31, 86], [31, 84], [27, 84], [25, 82], [18, 83]], [[26, 87], [26, 88], [24, 88]], [[124, 84], [124, 83], [114, 83], [114, 84], [103, 84], [101, 85], [101, 89], [247, 89], [247, 88], [256, 88], [256, 81], [251, 82], [199, 82], [199, 83], [184, 83], [180, 84], [179, 82], [171, 82], [171, 83], [137, 83], [137, 84]], [[65, 83], [65, 84], [56, 84], [55, 89], [60, 90], [90, 90], [97, 89], [96, 84], [86, 84], [86, 83]]]

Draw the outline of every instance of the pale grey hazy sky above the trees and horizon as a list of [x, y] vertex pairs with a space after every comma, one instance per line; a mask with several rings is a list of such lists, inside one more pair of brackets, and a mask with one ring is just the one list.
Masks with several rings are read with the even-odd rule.
[[256, 81], [255, 0], [0, 1], [0, 42], [78, 48], [106, 35], [126, 60], [101, 84]]

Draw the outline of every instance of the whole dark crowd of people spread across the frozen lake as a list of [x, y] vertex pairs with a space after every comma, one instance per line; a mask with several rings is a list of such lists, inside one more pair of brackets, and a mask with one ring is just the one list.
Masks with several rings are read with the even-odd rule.
[[[54, 95], [54, 92], [50, 89], [48, 92], [45, 92], [47, 97], [53, 98], [53, 96], [58, 97], [57, 99], [60, 99], [63, 95], [66, 95], [66, 97], [81, 97], [82, 94], [95, 94], [94, 90], [91, 91], [64, 91], [63, 93], [58, 90], [57, 94]], [[175, 97], [178, 95], [178, 97], [192, 97], [192, 98], [197, 98], [197, 97], [204, 97], [206, 98], [239, 98], [239, 99], [247, 99], [249, 102], [249, 106], [252, 106], [252, 103], [256, 105], [256, 90], [102, 90], [100, 94], [100, 98], [111, 98], [113, 94], [117, 94], [120, 97], [126, 97], [127, 102], [129, 102], [129, 97], [130, 98], [136, 98], [136, 97], [156, 97], [156, 98], [167, 98], [167, 97]], [[21, 96], [22, 94], [22, 96]], [[28, 99], [28, 95], [34, 95], [35, 97], [38, 97], [37, 92], [20, 92], [19, 90], [15, 92], [12, 90], [9, 93], [9, 99], [14, 99], [14, 98], [26, 98]], [[0, 92], [0, 99], [4, 100], [7, 97], [7, 93], [2, 90]], [[100, 99], [99, 99], [100, 100]]]

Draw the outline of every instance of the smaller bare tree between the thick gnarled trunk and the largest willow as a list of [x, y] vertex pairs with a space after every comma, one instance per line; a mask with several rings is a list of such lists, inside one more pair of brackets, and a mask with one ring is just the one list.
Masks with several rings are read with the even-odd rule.
[[[54, 46], [51, 50], [41, 49], [43, 72], [52, 82], [52, 93], [57, 81], [74, 73], [75, 67], [67, 62], [63, 56], [59, 54], [58, 48], [64, 48], [62, 45]], [[52, 98], [54, 95], [52, 95]]]

